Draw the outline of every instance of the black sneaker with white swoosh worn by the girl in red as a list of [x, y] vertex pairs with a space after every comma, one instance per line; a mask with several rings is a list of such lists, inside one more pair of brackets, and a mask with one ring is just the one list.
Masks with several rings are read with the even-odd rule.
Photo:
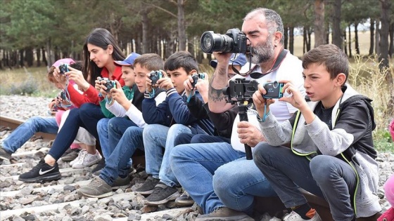
[[58, 180], [60, 178], [61, 173], [59, 172], [58, 163], [55, 163], [55, 166], [49, 166], [45, 163], [44, 159], [42, 159], [32, 170], [19, 175], [18, 180], [23, 182], [43, 182]]

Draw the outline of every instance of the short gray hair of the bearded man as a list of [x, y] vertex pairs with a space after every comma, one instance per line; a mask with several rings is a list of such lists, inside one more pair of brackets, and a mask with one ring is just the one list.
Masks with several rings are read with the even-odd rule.
[[269, 34], [274, 34], [274, 32], [281, 32], [282, 38], [280, 43], [284, 43], [284, 26], [281, 19], [281, 15], [279, 15], [276, 11], [268, 8], [255, 8], [250, 11], [245, 18], [244, 21], [255, 18], [256, 16], [264, 16], [267, 21], [267, 29]]

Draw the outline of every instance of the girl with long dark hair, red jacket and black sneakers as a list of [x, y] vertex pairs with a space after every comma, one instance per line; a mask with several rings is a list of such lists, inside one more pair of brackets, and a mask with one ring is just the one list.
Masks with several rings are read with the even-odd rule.
[[[122, 68], [115, 65], [114, 60], [124, 60], [125, 55], [108, 30], [94, 29], [84, 43], [83, 58], [84, 67], [82, 72], [69, 67], [69, 72], [65, 73], [69, 81], [74, 81], [81, 91], [84, 91], [82, 104], [74, 104], [80, 105], [80, 108], [70, 110], [70, 114], [61, 130], [59, 130], [49, 153], [32, 170], [20, 175], [20, 181], [42, 182], [60, 179], [61, 174], [56, 161], [70, 147], [72, 141], [75, 140], [78, 128], [86, 128], [98, 140], [97, 122], [105, 116], [101, 112], [100, 106], [98, 106], [98, 91], [94, 88], [94, 81], [97, 76], [101, 76], [117, 80], [123, 86], [125, 82], [120, 79]], [[56, 76], [60, 77], [58, 73], [56, 73]], [[68, 86], [69, 88], [70, 86]], [[70, 97], [80, 95], [80, 93], [73, 90], [70, 90], [69, 93]], [[73, 164], [73, 167], [91, 166], [101, 160], [101, 154], [97, 152], [95, 147], [87, 149], [87, 152], [83, 154], [78, 161], [80, 165], [75, 166]]]

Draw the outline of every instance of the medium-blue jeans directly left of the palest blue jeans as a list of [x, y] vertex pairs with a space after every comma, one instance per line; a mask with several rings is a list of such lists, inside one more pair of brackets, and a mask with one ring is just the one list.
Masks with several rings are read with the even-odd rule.
[[[110, 123], [114, 123], [115, 121], [119, 121], [119, 118], [114, 121], [111, 119]], [[130, 122], [133, 123], [132, 121]], [[119, 128], [125, 126], [126, 121], [122, 123]], [[110, 126], [108, 127], [110, 128]], [[114, 127], [114, 125], [112, 127]], [[125, 133], [123, 133], [119, 139], [119, 142], [117, 142], [115, 149], [113, 149], [113, 152], [110, 154], [110, 156], [106, 158], [106, 166], [103, 168], [103, 170], [101, 170], [100, 178], [106, 181], [108, 185], [113, 185], [113, 181], [116, 180], [118, 176], [125, 178], [127, 173], [129, 173], [129, 168], [132, 163], [130, 158], [136, 149], [139, 148], [144, 150], [144, 143], [142, 140], [143, 130], [144, 128], [139, 128], [138, 126], [135, 126], [135, 124], [134, 126], [129, 126], [126, 128]], [[113, 143], [110, 143], [110, 145], [112, 144]]]

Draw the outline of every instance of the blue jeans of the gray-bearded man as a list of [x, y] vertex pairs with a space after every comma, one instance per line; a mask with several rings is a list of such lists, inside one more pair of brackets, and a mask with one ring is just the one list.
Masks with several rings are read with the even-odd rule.
[[179, 183], [205, 214], [224, 206], [250, 213], [254, 196], [276, 196], [253, 161], [227, 142], [179, 145], [170, 161]]

